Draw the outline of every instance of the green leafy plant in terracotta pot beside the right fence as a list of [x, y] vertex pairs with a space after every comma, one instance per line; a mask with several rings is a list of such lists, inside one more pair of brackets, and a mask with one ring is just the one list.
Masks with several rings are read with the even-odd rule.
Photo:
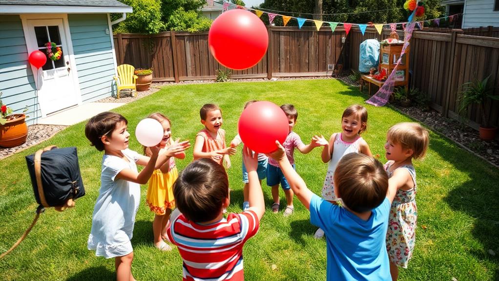
[[480, 125], [480, 138], [483, 140], [493, 140], [496, 137], [497, 128], [492, 127], [489, 123], [489, 115], [485, 109], [487, 99], [499, 100], [499, 95], [494, 95], [494, 86], [489, 84], [487, 76], [483, 80], [475, 79], [472, 82], [461, 85], [459, 92], [459, 113], [466, 114], [468, 107], [474, 103], [480, 106], [482, 115], [482, 124]]

